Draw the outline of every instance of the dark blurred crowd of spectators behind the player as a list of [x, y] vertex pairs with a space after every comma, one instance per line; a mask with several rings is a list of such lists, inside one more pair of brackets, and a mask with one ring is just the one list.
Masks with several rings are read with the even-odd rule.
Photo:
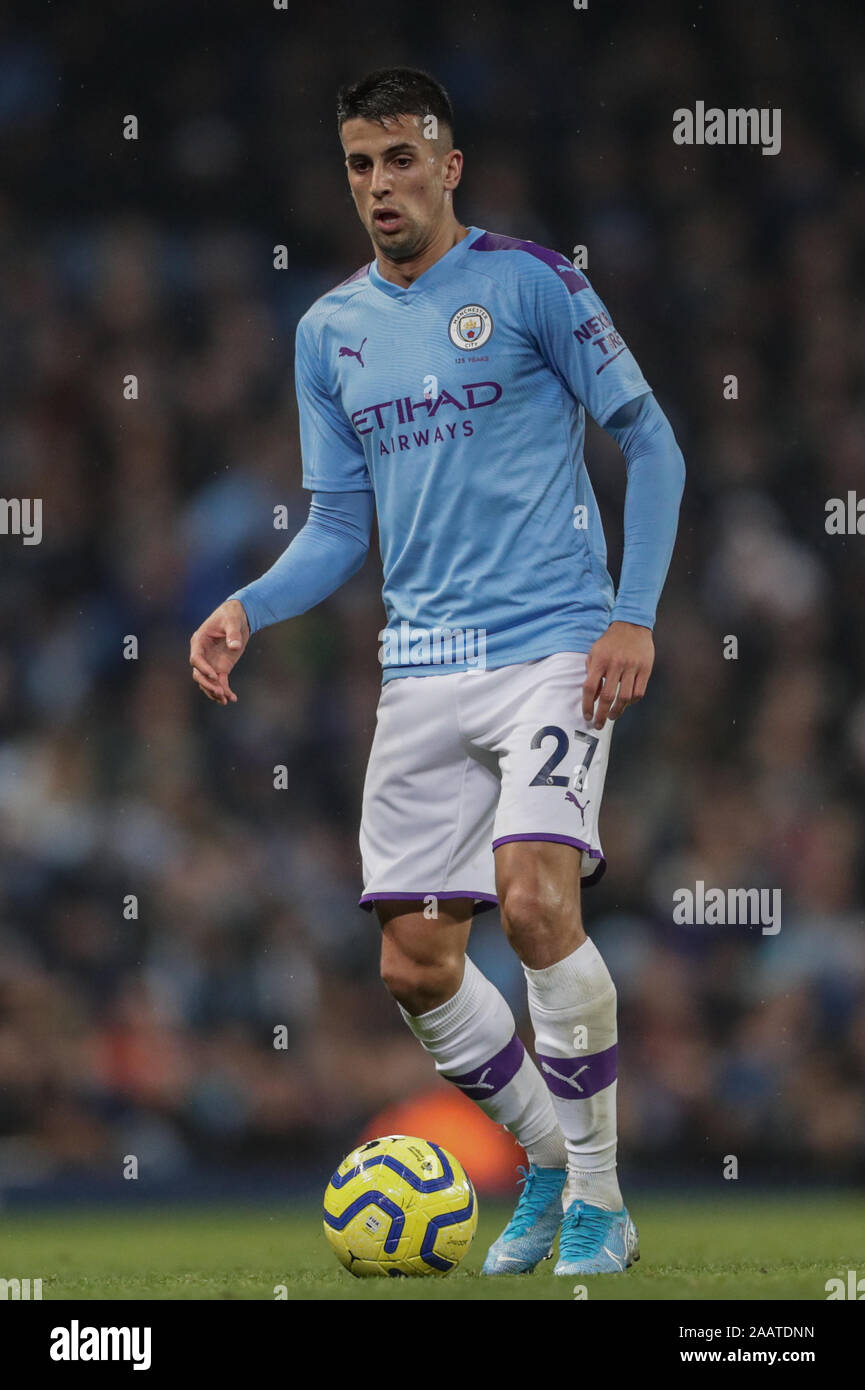
[[[451, 92], [463, 222], [587, 246], [688, 466], [584, 903], [627, 1180], [864, 1176], [865, 537], [825, 530], [865, 495], [864, 28], [783, 0], [6, 7], [0, 491], [43, 499], [43, 539], [0, 537], [0, 1197], [114, 1190], [127, 1155], [178, 1191], [318, 1183], [382, 1109], [444, 1104], [356, 906], [377, 552], [253, 638], [236, 706], [188, 667], [305, 520], [295, 325], [370, 260], [335, 89], [396, 63]], [[697, 100], [780, 107], [782, 153], [674, 145]], [[587, 459], [616, 574], [623, 460], [594, 425]], [[676, 926], [697, 880], [780, 888], [780, 933]], [[470, 949], [530, 1041], [495, 912]]]

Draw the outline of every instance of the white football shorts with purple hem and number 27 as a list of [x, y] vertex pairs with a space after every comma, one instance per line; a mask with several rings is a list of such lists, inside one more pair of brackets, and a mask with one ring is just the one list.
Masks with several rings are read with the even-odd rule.
[[613, 723], [583, 719], [584, 652], [498, 670], [387, 681], [363, 788], [363, 897], [498, 902], [494, 851], [552, 840], [583, 851], [583, 883], [606, 862], [598, 838]]

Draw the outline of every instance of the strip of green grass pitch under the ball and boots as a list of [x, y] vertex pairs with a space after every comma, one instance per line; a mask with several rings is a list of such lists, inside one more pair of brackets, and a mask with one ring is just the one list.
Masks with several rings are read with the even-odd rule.
[[[284, 1209], [159, 1208], [0, 1213], [0, 1277], [40, 1277], [43, 1300], [527, 1300], [574, 1298], [552, 1261], [534, 1275], [483, 1277], [510, 1208], [480, 1204], [464, 1264], [445, 1279], [353, 1279], [335, 1261], [312, 1204]], [[855, 1197], [738, 1197], [633, 1202], [642, 1258], [626, 1275], [580, 1280], [590, 1300], [825, 1300], [825, 1283], [861, 1268], [865, 1202]]]

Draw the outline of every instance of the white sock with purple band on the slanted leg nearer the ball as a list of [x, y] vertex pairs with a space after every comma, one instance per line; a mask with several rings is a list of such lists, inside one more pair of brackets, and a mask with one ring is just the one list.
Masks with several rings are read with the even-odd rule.
[[549, 1093], [516, 1036], [505, 999], [469, 956], [452, 999], [417, 1016], [402, 1005], [399, 1012], [437, 1072], [510, 1130], [530, 1162], [540, 1154], [542, 1166], [565, 1168], [565, 1140]]

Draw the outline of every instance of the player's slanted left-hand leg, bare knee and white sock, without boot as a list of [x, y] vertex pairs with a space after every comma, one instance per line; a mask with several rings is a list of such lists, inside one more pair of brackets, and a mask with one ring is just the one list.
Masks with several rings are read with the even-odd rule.
[[516, 1036], [513, 1015], [467, 958], [473, 902], [377, 902], [381, 976], [437, 1070], [523, 1145], [531, 1163], [565, 1168], [549, 1093]]

